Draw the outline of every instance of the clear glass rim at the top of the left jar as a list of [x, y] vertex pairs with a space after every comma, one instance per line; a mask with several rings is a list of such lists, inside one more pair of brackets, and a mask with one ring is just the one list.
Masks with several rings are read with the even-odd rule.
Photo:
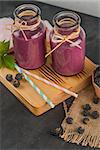
[[16, 7], [16, 9], [13, 12], [13, 15], [14, 15], [14, 17], [17, 17], [18, 19], [22, 19], [18, 14], [20, 14], [21, 11], [25, 11], [28, 9], [36, 12], [36, 15], [32, 16], [31, 19], [34, 19], [41, 14], [41, 10], [38, 6], [36, 6], [34, 4], [22, 4], [22, 5], [19, 5], [18, 7]]

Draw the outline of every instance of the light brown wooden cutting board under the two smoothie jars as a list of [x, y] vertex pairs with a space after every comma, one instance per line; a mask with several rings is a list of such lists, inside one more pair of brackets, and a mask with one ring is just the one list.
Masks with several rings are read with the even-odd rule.
[[[84, 70], [71, 77], [64, 77], [57, 74], [51, 67], [51, 59], [48, 58], [46, 64], [39, 69], [31, 70], [40, 77], [44, 77], [51, 82], [54, 82], [60, 86], [70, 89], [74, 92], [79, 92], [85, 88], [91, 81], [91, 74], [96, 65], [87, 57], [85, 58]], [[34, 91], [34, 89], [24, 79], [21, 81], [21, 86], [15, 88], [9, 83], [5, 77], [7, 74], [15, 74], [16, 70], [12, 71], [7, 68], [0, 69], [0, 81], [22, 102], [33, 114], [41, 115], [47, 110], [51, 109], [50, 106]], [[32, 81], [45, 93], [45, 95], [55, 104], [63, 102], [69, 98], [70, 95], [50, 86], [46, 85], [42, 81], [31, 78]]]

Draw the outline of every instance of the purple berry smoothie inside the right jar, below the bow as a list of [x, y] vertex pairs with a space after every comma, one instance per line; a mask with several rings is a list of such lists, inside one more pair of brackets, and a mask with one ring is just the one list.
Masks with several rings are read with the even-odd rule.
[[[69, 35], [76, 28], [69, 28], [63, 24], [64, 28], [58, 28], [58, 32], [61, 35]], [[52, 40], [53, 32], [51, 33], [51, 48], [57, 46], [59, 43], [55, 43]], [[65, 76], [75, 75], [81, 72], [84, 68], [85, 59], [85, 32], [81, 27], [79, 36], [72, 40], [74, 42], [80, 42], [81, 49], [76, 46], [71, 46], [69, 42], [64, 42], [59, 48], [52, 53], [52, 67], [54, 70]]]

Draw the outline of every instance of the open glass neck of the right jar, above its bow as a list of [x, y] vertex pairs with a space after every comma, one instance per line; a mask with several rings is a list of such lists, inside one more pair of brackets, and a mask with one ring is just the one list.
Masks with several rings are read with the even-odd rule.
[[69, 35], [80, 26], [80, 17], [70, 11], [63, 11], [53, 18], [54, 30], [61, 35]]

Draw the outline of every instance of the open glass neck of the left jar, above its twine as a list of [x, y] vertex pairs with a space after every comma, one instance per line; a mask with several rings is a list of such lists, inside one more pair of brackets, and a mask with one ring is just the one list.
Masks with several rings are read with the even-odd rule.
[[14, 11], [14, 17], [19, 23], [35, 25], [40, 20], [40, 9], [32, 4], [24, 4], [17, 7]]

